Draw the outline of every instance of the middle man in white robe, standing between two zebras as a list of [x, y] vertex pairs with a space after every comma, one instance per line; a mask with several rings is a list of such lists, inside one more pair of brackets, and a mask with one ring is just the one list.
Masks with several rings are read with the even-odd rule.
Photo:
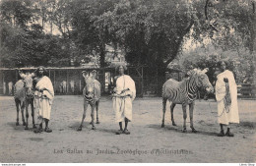
[[[129, 135], [128, 122], [132, 121], [132, 101], [136, 96], [135, 83], [128, 75], [124, 75], [125, 66], [120, 65], [117, 70], [119, 76], [116, 80], [116, 86], [113, 90], [113, 109], [115, 111], [115, 120], [119, 123], [120, 130], [116, 135]], [[123, 130], [122, 121], [125, 122]]]

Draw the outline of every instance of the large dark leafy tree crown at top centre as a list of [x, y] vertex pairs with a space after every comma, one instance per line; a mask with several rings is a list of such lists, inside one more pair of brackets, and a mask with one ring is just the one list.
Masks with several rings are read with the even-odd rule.
[[166, 67], [193, 25], [188, 12], [185, 1], [120, 1], [99, 19], [130, 64]]

